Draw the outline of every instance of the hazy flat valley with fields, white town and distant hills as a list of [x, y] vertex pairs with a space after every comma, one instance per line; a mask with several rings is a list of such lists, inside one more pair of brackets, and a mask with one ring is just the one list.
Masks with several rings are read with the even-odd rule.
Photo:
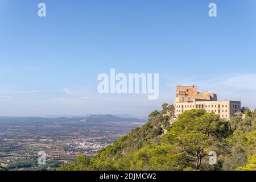
[[[0, 164], [10, 170], [54, 169], [77, 155], [96, 155], [97, 151], [145, 122], [145, 119], [110, 114], [57, 118], [0, 117]], [[46, 152], [46, 166], [38, 165], [38, 151]]]

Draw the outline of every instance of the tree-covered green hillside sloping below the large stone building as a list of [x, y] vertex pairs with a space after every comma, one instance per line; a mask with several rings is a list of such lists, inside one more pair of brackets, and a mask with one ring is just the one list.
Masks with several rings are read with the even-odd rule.
[[[163, 104], [148, 122], [133, 129], [93, 158], [78, 156], [60, 170], [255, 170], [256, 110], [229, 122], [204, 109], [174, 121], [174, 106]], [[217, 164], [209, 164], [209, 151]], [[248, 160], [249, 159], [249, 160]]]

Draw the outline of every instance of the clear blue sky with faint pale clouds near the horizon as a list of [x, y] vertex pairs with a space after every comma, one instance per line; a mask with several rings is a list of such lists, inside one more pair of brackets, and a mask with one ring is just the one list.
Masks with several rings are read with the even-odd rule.
[[[254, 109], [255, 59], [254, 0], [0, 0], [0, 115], [142, 116], [172, 103], [177, 84]], [[159, 99], [98, 94], [110, 68], [159, 73]]]

